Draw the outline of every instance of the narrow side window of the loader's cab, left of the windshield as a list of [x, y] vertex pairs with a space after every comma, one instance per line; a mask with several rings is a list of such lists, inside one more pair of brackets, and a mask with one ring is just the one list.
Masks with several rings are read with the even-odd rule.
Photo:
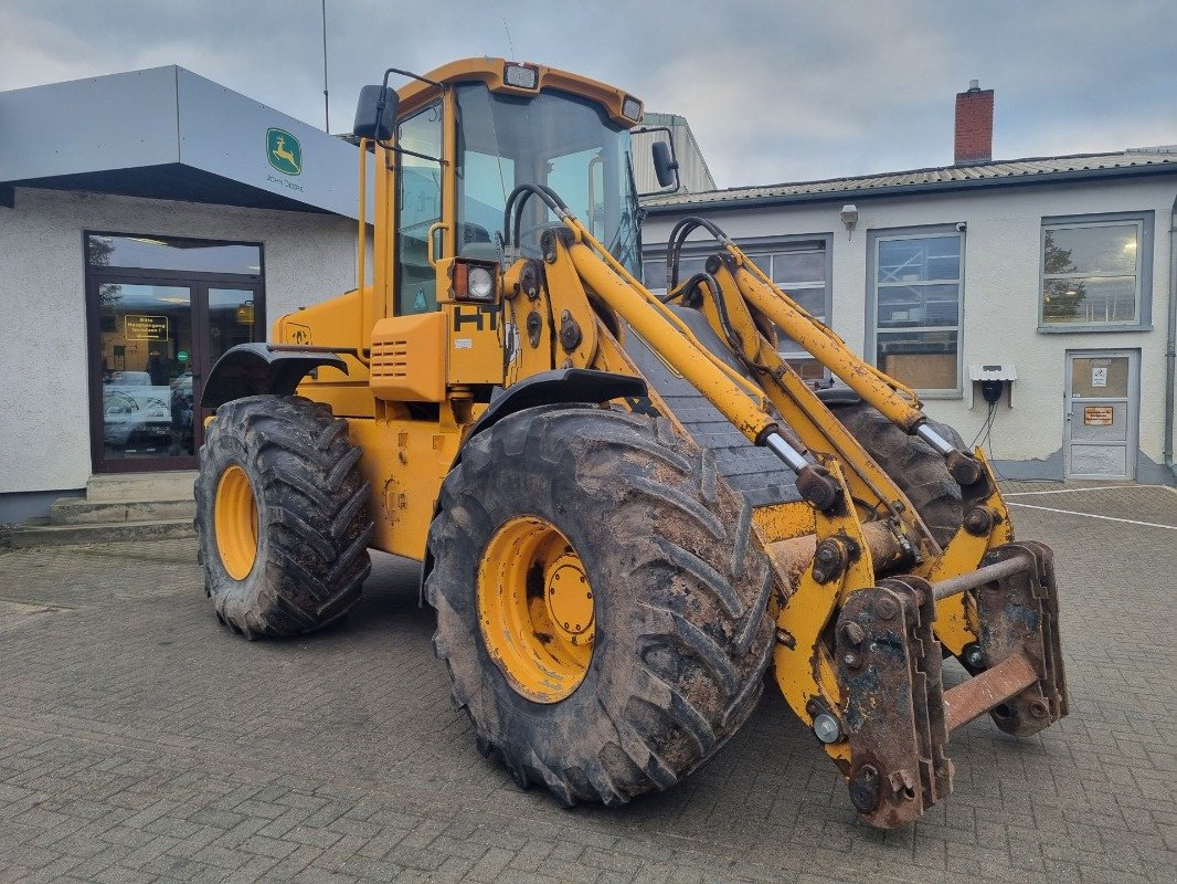
[[[426, 157], [441, 156], [441, 105], [430, 105], [400, 124], [397, 144]], [[399, 154], [397, 193], [397, 315], [437, 310], [437, 277], [428, 260], [430, 227], [441, 220], [441, 165]]]

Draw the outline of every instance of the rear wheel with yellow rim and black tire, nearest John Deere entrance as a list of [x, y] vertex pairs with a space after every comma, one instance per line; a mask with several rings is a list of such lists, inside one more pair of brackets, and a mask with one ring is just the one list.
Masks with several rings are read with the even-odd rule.
[[359, 459], [347, 422], [322, 403], [250, 396], [218, 409], [200, 449], [195, 527], [221, 622], [248, 639], [298, 635], [359, 600], [372, 568]]

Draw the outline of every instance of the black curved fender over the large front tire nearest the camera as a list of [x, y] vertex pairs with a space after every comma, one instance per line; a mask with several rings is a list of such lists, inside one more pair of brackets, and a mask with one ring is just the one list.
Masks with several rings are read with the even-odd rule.
[[[538, 375], [511, 384], [491, 400], [491, 404], [474, 421], [466, 438], [463, 440], [463, 448], [458, 449], [458, 456], [454, 457], [450, 469], [461, 463], [461, 451], [470, 443], [470, 440], [517, 411], [543, 405], [599, 405], [610, 400], [643, 397], [647, 392], [645, 380], [633, 375], [619, 375], [613, 371], [593, 369], [540, 371]], [[437, 519], [437, 515], [438, 507], [434, 504], [433, 519]], [[418, 605], [423, 608], [425, 607], [425, 580], [431, 570], [433, 570], [433, 554], [426, 545], [425, 558], [421, 560], [421, 582], [418, 588]]]

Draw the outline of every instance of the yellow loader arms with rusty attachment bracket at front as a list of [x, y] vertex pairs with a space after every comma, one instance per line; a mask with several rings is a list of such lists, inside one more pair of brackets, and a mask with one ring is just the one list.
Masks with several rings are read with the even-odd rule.
[[[545, 197], [563, 226], [544, 236], [547, 288], [537, 297], [563, 317], [565, 364], [636, 371], [617, 338], [637, 335], [749, 441], [796, 471], [804, 503], [753, 509], [776, 573], [774, 675], [843, 772], [864, 819], [904, 825], [946, 797], [949, 733], [976, 717], [991, 712], [1003, 730], [1028, 734], [1065, 714], [1050, 550], [1012, 542], [982, 451], [958, 451], [940, 438], [913, 391], [858, 358], [730, 240], [704, 279], [673, 286], [666, 301], [693, 301], [747, 375], [717, 358], [554, 194]], [[507, 271], [506, 291], [521, 290], [524, 264]], [[586, 318], [593, 334], [580, 331]], [[970, 514], [944, 547], [779, 356], [772, 324], [944, 455]], [[676, 420], [657, 394], [651, 400]], [[940, 675], [942, 647], [962, 655], [973, 675], [951, 691]]]

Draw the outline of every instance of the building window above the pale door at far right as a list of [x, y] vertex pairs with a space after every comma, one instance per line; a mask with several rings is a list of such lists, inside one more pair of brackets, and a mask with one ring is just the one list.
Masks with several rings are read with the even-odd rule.
[[1146, 324], [1149, 222], [1143, 216], [1045, 220], [1039, 328], [1098, 331]]

